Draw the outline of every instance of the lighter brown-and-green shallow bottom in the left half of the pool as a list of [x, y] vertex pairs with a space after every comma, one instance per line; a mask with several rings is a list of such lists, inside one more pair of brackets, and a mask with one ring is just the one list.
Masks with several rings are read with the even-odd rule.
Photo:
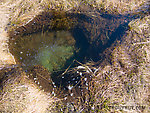
[[47, 31], [15, 37], [10, 47], [16, 62], [25, 69], [41, 65], [50, 72], [62, 69], [76, 52], [75, 40], [69, 31]]

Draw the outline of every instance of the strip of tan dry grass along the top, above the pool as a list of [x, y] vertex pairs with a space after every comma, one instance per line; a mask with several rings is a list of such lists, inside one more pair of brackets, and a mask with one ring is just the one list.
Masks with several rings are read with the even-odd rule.
[[148, 10], [148, 0], [2, 0], [10, 8], [11, 25], [23, 25], [46, 9], [69, 11], [82, 5], [102, 10], [110, 14], [140, 13]]

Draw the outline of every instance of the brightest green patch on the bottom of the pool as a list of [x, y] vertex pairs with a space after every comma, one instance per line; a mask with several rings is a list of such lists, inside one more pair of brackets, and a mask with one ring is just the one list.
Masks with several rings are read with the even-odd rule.
[[73, 56], [73, 47], [71, 46], [56, 46], [44, 48], [40, 53], [40, 64], [47, 68], [50, 72], [60, 70], [65, 66], [65, 62]]

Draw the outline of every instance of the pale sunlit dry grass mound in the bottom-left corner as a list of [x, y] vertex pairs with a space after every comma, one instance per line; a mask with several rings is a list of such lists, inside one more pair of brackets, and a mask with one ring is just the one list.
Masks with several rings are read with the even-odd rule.
[[[41, 90], [30, 80], [21, 69], [2, 69], [1, 74], [8, 73], [2, 85], [0, 94], [0, 112], [15, 113], [45, 113], [47, 108], [51, 109], [58, 99]], [[9, 75], [9, 73], [13, 73]]]

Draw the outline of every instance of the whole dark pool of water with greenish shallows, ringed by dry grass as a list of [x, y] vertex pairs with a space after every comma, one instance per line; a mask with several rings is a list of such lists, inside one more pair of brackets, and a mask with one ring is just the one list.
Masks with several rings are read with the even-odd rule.
[[[97, 62], [104, 59], [105, 56], [101, 53], [117, 40], [121, 40], [128, 29], [128, 23], [136, 18], [130, 15], [108, 15], [93, 10], [91, 12], [42, 12], [26, 25], [10, 31], [10, 52], [18, 64], [30, 67], [27, 68], [27, 72], [29, 75], [32, 73], [32, 79], [38, 76], [37, 73], [42, 76], [42, 71], [39, 72], [40, 67], [36, 67], [41, 65], [49, 70], [49, 74], [43, 76], [51, 76], [48, 78], [52, 78], [57, 87], [68, 92], [70, 85], [75, 86], [74, 90], [77, 89], [77, 95], [80, 95], [86, 90], [82, 86], [90, 81], [90, 74], [84, 76], [88, 80], [82, 82], [85, 70], [75, 68], [65, 74], [62, 73], [69, 66], [70, 68], [78, 66], [74, 60], [86, 63], [90, 60]], [[43, 38], [42, 34], [46, 36]], [[27, 64], [23, 65], [25, 62]], [[40, 80], [43, 82], [42, 78], [39, 78]], [[47, 84], [43, 85], [43, 88], [47, 87]]]

